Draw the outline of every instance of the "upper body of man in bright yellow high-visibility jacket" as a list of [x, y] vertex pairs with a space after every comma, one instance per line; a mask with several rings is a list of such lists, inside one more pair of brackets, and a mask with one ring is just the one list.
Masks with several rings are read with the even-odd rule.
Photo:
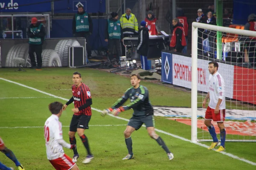
[[126, 13], [121, 16], [120, 23], [122, 26], [122, 32], [124, 34], [124, 37], [138, 34], [138, 21], [135, 15], [131, 13], [130, 8], [127, 8]]

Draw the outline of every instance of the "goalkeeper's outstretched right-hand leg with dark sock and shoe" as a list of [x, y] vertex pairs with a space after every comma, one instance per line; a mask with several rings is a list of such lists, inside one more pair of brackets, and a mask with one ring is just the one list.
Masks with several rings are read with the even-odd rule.
[[154, 127], [147, 127], [148, 135], [157, 141], [157, 143], [163, 148], [163, 150], [166, 151], [167, 156], [169, 160], [172, 160], [174, 158], [173, 153], [168, 149], [166, 144], [163, 142], [163, 139], [157, 135], [157, 133], [154, 130]]

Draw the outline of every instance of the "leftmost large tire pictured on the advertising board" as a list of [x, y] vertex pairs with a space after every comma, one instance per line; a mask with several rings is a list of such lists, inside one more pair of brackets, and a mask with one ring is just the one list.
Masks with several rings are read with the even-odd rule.
[[[17, 44], [12, 46], [12, 48], [9, 50], [7, 57], [6, 57], [6, 63], [5, 67], [18, 67], [17, 64], [12, 62], [12, 59], [14, 58], [23, 58], [26, 61], [26, 57], [29, 52], [29, 44]], [[23, 67], [26, 66], [26, 63], [22, 65]]]

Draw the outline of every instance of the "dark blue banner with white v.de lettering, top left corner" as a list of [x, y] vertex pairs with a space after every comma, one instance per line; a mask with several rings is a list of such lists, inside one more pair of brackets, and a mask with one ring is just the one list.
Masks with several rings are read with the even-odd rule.
[[0, 0], [0, 12], [49, 12], [51, 0]]

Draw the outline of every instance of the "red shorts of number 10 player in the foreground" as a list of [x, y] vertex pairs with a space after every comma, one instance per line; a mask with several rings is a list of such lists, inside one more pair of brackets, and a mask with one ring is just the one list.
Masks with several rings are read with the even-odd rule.
[[60, 158], [49, 160], [56, 170], [70, 170], [76, 163], [66, 154]]

